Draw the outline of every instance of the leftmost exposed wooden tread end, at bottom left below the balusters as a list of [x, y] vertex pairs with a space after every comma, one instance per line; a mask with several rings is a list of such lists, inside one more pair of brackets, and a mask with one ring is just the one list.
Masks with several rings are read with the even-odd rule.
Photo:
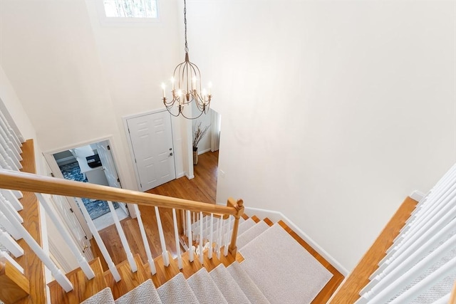
[[48, 283], [51, 303], [81, 303], [106, 288], [107, 285], [100, 259], [94, 258], [89, 262], [89, 265], [95, 273], [95, 278], [91, 280], [86, 277], [81, 268], [76, 268], [66, 274], [68, 280], [73, 284], [73, 290], [68, 293], [56, 281]]

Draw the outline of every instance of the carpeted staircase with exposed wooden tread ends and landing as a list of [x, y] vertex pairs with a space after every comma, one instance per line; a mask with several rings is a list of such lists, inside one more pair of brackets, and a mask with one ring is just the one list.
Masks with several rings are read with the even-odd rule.
[[[204, 227], [209, 218], [204, 216], [192, 226], [198, 227], [202, 224]], [[299, 237], [299, 241], [294, 239], [286, 229], [290, 230], [283, 221], [273, 224], [269, 219], [260, 221], [256, 216], [252, 218], [244, 216], [238, 229], [239, 252], [236, 257], [229, 254], [227, 256], [219, 254], [217, 257], [215, 252], [212, 257], [209, 257], [209, 248], [206, 248], [203, 263], [200, 263], [197, 258], [190, 262], [189, 252], [186, 252], [183, 254], [184, 267], [180, 271], [177, 267], [177, 259], [170, 258], [170, 266], [165, 267], [160, 256], [155, 258], [157, 273], [152, 276], [148, 264], [142, 263], [140, 256], [136, 255], [135, 261], [138, 265], [136, 273], [132, 273], [126, 261], [116, 266], [122, 277], [118, 283], [113, 280], [110, 271], [103, 272], [99, 258], [95, 258], [90, 262], [90, 266], [95, 271], [94, 279], [87, 280], [81, 269], [67, 274], [73, 285], [78, 286], [71, 292], [66, 293], [55, 281], [48, 284], [51, 290], [51, 303], [311, 303], [312, 300], [314, 300], [313, 303], [325, 303], [331, 293], [321, 295], [318, 293], [328, 281], [331, 281], [328, 285], [338, 284], [342, 277], [333, 276], [321, 264], [320, 270], [324, 276], [316, 284], [316, 288], [310, 291], [309, 288], [296, 288], [292, 282], [289, 282], [290, 278], [300, 276], [300, 273], [302, 276], [302, 273], [305, 273], [302, 269], [292, 267], [284, 269], [281, 273], [271, 273], [271, 276], [258, 276], [262, 270], [249, 268], [247, 265], [246, 259], [251, 254], [249, 247], [251, 249], [257, 247], [255, 244], [253, 246], [250, 244], [256, 240], [267, 243], [264, 240], [272, 237], [268, 234], [277, 232], [283, 234], [284, 238], [295, 246], [279, 248], [281, 253], [301, 255], [301, 259], [308, 258], [309, 253], [299, 244], [304, 241]], [[204, 238], [207, 236], [205, 232], [202, 235]], [[274, 240], [271, 241], [271, 243], [274, 242]], [[244, 249], [246, 259], [242, 256]], [[289, 253], [293, 249], [297, 249], [297, 253]], [[224, 248], [221, 248], [220, 252], [222, 251]], [[276, 252], [259, 253], [265, 257], [264, 269], [277, 263], [280, 258], [276, 256]], [[319, 264], [315, 259], [314, 263]], [[284, 265], [286, 266], [286, 263]], [[289, 265], [292, 266], [294, 263]], [[312, 279], [312, 281], [316, 280], [316, 278]], [[303, 282], [299, 280], [298, 283]]]

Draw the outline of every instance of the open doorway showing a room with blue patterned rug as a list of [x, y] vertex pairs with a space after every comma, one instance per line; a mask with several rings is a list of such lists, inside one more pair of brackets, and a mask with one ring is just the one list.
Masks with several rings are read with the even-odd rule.
[[[121, 188], [109, 140], [56, 152], [52, 157], [59, 169], [56, 175], [60, 173], [64, 179]], [[86, 198], [82, 201], [97, 230], [114, 224], [107, 201]], [[120, 220], [129, 216], [126, 204], [113, 201], [113, 205]]]

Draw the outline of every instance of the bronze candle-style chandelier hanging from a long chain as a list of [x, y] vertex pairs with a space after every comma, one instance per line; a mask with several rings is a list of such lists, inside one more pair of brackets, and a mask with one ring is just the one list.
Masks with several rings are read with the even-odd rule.
[[[184, 0], [184, 25], [185, 25], [185, 61], [178, 64], [174, 70], [171, 78], [172, 85], [172, 99], [170, 101], [166, 98], [166, 86], [162, 83], [163, 90], [163, 104], [166, 110], [170, 112], [172, 116], [179, 116], [182, 114], [183, 117], [194, 120], [201, 116], [203, 113], [206, 114], [209, 111], [209, 105], [211, 103], [211, 83], [208, 84], [208, 90], [201, 88], [201, 73], [195, 63], [191, 63], [188, 58], [188, 46], [187, 46], [187, 4]], [[190, 112], [192, 112], [192, 103], [195, 103], [199, 114], [188, 115], [184, 113], [185, 105], [190, 106]]]

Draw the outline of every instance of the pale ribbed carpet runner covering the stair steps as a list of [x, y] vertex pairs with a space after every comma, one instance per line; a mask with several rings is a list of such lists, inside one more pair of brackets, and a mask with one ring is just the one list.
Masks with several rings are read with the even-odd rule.
[[[247, 246], [250, 241], [257, 239], [264, 231], [278, 229], [277, 227], [280, 226], [275, 224], [270, 227], [264, 221], [259, 221], [259, 223], [255, 223], [252, 219], [242, 221], [239, 224], [239, 251], [242, 252], [243, 247]], [[83, 301], [83, 304], [284, 303], [278, 302], [274, 295], [270, 295], [268, 298], [267, 293], [265, 295], [257, 285], [259, 282], [256, 283], [255, 278], [252, 278], [244, 270], [243, 263], [235, 261], [228, 267], [220, 264], [209, 273], [206, 268], [201, 268], [187, 280], [182, 273], [178, 273], [177, 276], [159, 288], [155, 288], [152, 280], [149, 279], [117, 300], [114, 300], [110, 288], [105, 288]], [[331, 276], [328, 276], [321, 283], [321, 288], [330, 278]], [[289, 279], [292, 280], [293, 278]], [[296, 302], [287, 303], [302, 303], [302, 299], [296, 298]]]

